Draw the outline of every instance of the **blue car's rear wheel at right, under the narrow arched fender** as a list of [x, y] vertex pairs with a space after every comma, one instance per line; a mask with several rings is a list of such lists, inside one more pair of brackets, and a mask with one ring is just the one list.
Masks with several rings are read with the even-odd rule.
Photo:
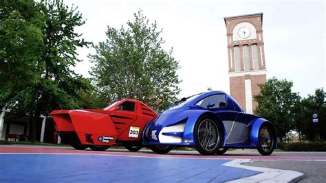
[[272, 127], [268, 124], [263, 124], [259, 128], [258, 134], [258, 147], [257, 150], [263, 156], [268, 156], [272, 154], [275, 149], [275, 138], [273, 135]]

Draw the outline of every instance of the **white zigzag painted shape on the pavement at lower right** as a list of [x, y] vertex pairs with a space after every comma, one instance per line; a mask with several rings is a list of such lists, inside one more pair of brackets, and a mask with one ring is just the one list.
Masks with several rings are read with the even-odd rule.
[[295, 178], [298, 178], [303, 175], [303, 173], [298, 171], [269, 169], [263, 167], [251, 167], [251, 166], [241, 164], [243, 162], [252, 162], [252, 161], [248, 159], [242, 159], [242, 160], [237, 159], [237, 160], [232, 160], [230, 162], [226, 162], [222, 165], [228, 167], [248, 169], [252, 171], [259, 171], [261, 173], [246, 178], [231, 180], [229, 182], [290, 182], [291, 180], [294, 180]]

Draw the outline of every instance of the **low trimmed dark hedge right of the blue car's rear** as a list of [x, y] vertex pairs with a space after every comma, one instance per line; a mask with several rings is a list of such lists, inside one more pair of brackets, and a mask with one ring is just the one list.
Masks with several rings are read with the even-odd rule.
[[318, 143], [278, 143], [284, 151], [326, 151], [326, 142]]

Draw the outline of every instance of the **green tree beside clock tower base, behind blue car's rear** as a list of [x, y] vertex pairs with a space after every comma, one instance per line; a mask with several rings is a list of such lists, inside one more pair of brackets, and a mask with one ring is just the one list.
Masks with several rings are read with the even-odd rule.
[[300, 101], [298, 93], [292, 93], [292, 86], [292, 82], [272, 77], [259, 85], [261, 93], [254, 96], [258, 103], [255, 114], [273, 123], [280, 141], [294, 128], [295, 106]]

